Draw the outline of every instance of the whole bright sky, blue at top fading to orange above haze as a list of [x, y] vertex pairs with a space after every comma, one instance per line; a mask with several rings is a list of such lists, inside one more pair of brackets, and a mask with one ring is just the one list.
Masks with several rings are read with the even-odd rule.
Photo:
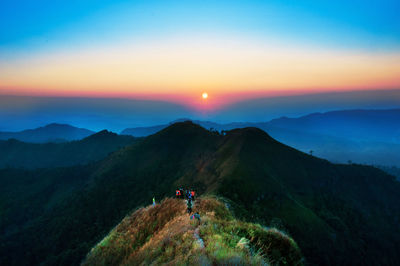
[[200, 115], [400, 89], [399, 13], [388, 0], [3, 0], [0, 97], [144, 100]]

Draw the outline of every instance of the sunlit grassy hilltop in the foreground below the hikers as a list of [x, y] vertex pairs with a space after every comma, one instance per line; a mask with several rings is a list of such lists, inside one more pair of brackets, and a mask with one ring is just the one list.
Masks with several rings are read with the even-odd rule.
[[[234, 219], [213, 197], [186, 204], [167, 198], [125, 217], [88, 254], [83, 265], [303, 265], [296, 242], [276, 228]], [[154, 222], [151, 222], [154, 221]]]

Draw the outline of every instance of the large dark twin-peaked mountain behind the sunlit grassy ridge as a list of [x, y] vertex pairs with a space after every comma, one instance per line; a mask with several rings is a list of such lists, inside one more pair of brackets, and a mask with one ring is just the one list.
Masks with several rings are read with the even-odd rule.
[[4, 265], [79, 264], [127, 214], [178, 186], [226, 198], [239, 221], [287, 232], [308, 264], [400, 263], [393, 176], [332, 164], [257, 128], [175, 123], [87, 166], [0, 170], [0, 184]]

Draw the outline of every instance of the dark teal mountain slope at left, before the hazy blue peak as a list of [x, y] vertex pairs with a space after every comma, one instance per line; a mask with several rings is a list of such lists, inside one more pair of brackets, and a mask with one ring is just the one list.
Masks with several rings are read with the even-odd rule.
[[0, 168], [49, 168], [87, 164], [132, 144], [135, 138], [107, 130], [82, 140], [62, 143], [26, 143], [0, 140]]

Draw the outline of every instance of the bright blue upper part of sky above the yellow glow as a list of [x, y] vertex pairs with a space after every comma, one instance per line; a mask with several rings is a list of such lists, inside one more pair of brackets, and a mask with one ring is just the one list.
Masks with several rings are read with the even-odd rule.
[[398, 49], [399, 1], [10, 1], [2, 52], [163, 34], [233, 32], [323, 46]]

